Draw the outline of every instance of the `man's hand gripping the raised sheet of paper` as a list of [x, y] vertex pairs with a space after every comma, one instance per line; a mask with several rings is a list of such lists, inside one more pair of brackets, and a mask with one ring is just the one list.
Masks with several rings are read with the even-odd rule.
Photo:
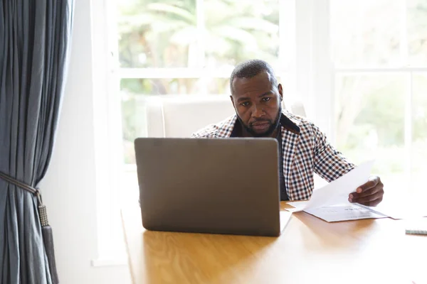
[[357, 187], [356, 192], [349, 194], [349, 202], [357, 202], [365, 206], [376, 206], [382, 201], [384, 185], [379, 177], [373, 176], [364, 185]]

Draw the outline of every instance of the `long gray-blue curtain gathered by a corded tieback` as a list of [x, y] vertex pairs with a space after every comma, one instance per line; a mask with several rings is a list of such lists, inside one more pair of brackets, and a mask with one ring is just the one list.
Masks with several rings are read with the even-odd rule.
[[58, 283], [51, 228], [25, 188], [48, 169], [72, 18], [73, 0], [0, 0], [0, 283]]

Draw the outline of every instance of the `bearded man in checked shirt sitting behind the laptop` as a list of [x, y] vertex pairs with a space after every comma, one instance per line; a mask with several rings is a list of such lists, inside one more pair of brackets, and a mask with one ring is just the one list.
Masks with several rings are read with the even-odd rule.
[[[230, 78], [236, 114], [194, 133], [194, 138], [272, 137], [280, 153], [280, 200], [308, 200], [313, 174], [331, 182], [354, 168], [335, 150], [317, 126], [283, 110], [282, 85], [263, 60], [236, 66]], [[384, 195], [379, 177], [371, 177], [349, 195], [349, 202], [376, 206]]]

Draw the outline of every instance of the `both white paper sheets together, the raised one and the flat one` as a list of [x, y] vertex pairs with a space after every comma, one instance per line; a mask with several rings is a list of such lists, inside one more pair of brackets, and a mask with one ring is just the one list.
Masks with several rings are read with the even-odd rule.
[[373, 164], [374, 161], [363, 163], [341, 178], [314, 190], [308, 201], [289, 202], [288, 204], [294, 208], [287, 210], [290, 212], [305, 211], [327, 222], [387, 217], [368, 207], [348, 201], [349, 194], [355, 192], [357, 187], [369, 180]]

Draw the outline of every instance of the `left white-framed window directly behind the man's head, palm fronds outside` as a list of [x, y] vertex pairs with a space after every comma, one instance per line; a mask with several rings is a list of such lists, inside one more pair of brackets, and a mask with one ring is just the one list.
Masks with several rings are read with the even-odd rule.
[[[134, 140], [147, 135], [145, 102], [158, 95], [229, 95], [236, 63], [270, 62], [286, 94], [295, 89], [295, 4], [290, 0], [116, 1], [122, 180], [135, 200]], [[133, 192], [133, 194], [131, 194]]]

